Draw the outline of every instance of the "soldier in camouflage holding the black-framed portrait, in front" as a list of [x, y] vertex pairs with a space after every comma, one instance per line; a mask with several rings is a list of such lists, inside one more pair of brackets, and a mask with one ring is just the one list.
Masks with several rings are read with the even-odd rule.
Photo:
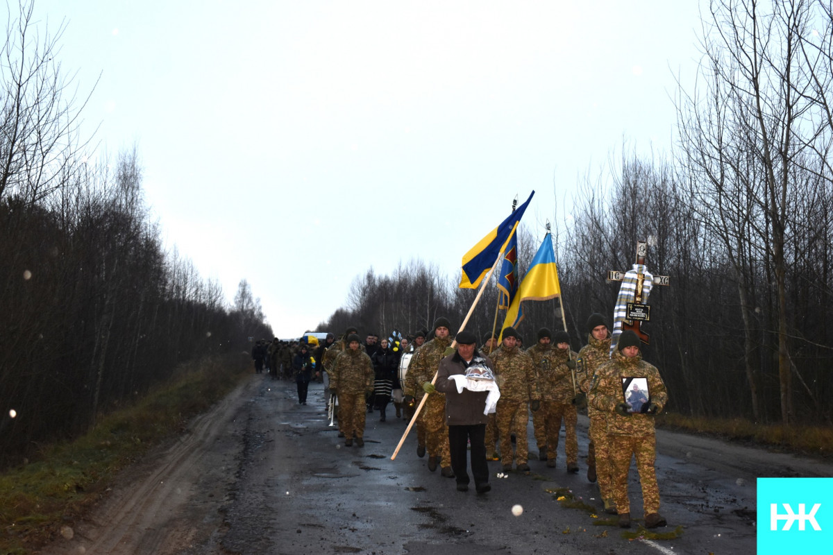
[[[625, 402], [625, 390], [632, 379], [644, 378], [648, 384], [648, 402], [641, 412], [631, 414]], [[613, 463], [613, 499], [619, 513], [619, 526], [631, 526], [631, 503], [627, 495], [627, 477], [631, 457], [636, 457], [636, 469], [642, 485], [642, 505], [645, 528], [665, 526], [660, 510], [660, 490], [656, 485], [656, 438], [654, 415], [668, 402], [666, 384], [659, 370], [642, 360], [639, 338], [631, 330], [619, 336], [611, 361], [599, 369], [596, 384], [588, 395], [590, 405], [605, 415], [607, 438]]]

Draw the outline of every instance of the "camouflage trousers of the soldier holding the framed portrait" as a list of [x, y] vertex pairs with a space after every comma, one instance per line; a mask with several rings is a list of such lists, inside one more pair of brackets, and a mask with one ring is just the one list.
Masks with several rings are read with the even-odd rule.
[[656, 439], [653, 435], [609, 436], [613, 461], [613, 500], [617, 513], [630, 513], [631, 502], [627, 497], [627, 475], [631, 470], [631, 457], [636, 457], [636, 470], [642, 485], [642, 508], [645, 514], [660, 510], [660, 488], [656, 485]]

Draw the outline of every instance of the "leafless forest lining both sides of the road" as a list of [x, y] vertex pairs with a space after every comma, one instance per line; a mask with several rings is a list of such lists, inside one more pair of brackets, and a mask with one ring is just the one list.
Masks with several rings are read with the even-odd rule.
[[[245, 280], [227, 306], [219, 285], [164, 250], [137, 151], [87, 160], [94, 145], [79, 133], [87, 97], [57, 59], [62, 30], [38, 28], [31, 5], [8, 15], [0, 463], [87, 429], [183, 361], [239, 353], [247, 337], [271, 335]], [[607, 271], [628, 269], [636, 240], [650, 238], [649, 268], [671, 286], [651, 294], [645, 354], [671, 390], [669, 409], [831, 424], [833, 4], [711, 2], [701, 23], [696, 84], [676, 91], [673, 151], [626, 151], [597, 181], [576, 184], [554, 234], [566, 327], [577, 349], [587, 315], [611, 314], [617, 286]], [[521, 226], [521, 277], [542, 236]], [[459, 270], [423, 258], [415, 252], [390, 275], [368, 260], [319, 328], [413, 332], [438, 315], [459, 325], [476, 291], [456, 288]], [[469, 329], [491, 330], [495, 306], [490, 286]], [[564, 325], [557, 300], [531, 303], [526, 314], [526, 344], [539, 327]], [[12, 409], [37, 418], [11, 418]]]

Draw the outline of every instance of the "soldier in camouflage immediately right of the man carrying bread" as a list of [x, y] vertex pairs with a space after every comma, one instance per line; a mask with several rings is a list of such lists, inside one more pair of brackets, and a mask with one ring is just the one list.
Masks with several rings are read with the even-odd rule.
[[497, 429], [501, 438], [501, 464], [503, 470], [512, 469], [511, 434], [515, 434], [515, 464], [521, 472], [529, 472], [529, 451], [526, 446], [526, 424], [529, 409], [541, 406], [538, 396], [535, 368], [532, 358], [517, 348], [517, 332], [507, 327], [503, 330], [501, 349], [491, 354], [495, 367], [497, 387], [501, 399], [497, 401]]

